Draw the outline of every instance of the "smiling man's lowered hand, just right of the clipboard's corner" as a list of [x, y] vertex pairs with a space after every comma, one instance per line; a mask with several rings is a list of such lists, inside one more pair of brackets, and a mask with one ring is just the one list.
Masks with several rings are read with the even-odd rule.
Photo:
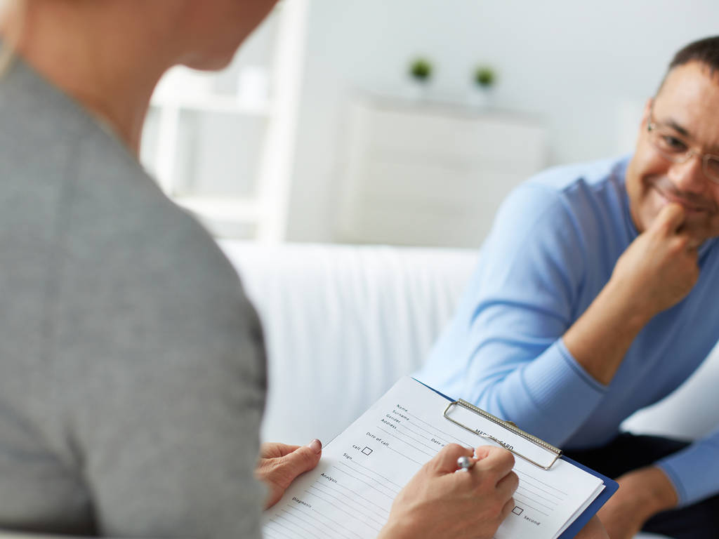
[[656, 466], [630, 471], [617, 482], [619, 490], [598, 513], [612, 539], [633, 538], [650, 517], [677, 505], [674, 486]]

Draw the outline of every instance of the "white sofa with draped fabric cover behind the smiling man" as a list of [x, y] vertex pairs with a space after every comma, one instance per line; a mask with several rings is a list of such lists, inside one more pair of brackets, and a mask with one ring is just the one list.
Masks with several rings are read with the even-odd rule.
[[[422, 363], [477, 252], [224, 241], [262, 318], [269, 358], [266, 440], [328, 442]], [[719, 424], [719, 349], [629, 430], [695, 438]], [[648, 383], [651, 383], [648, 381]], [[649, 538], [649, 535], [641, 535]]]

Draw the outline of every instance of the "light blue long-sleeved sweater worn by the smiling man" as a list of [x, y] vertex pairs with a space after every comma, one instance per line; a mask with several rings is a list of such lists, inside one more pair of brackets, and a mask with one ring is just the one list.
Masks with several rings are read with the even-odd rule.
[[[699, 367], [719, 336], [716, 239], [700, 248], [700, 279], [690, 295], [639, 333], [608, 386], [590, 377], [562, 341], [638, 235], [624, 184], [627, 162], [554, 168], [510, 194], [418, 379], [579, 449], [610, 441], [624, 419]], [[719, 492], [718, 462], [719, 430], [658, 464], [680, 505], [689, 505]]]

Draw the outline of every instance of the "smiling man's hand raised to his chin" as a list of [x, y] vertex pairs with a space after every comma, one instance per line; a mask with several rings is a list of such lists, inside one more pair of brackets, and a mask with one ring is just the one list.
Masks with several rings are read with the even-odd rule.
[[679, 204], [667, 204], [619, 257], [612, 284], [626, 292], [646, 319], [683, 300], [699, 278], [700, 241], [682, 231], [686, 218]]

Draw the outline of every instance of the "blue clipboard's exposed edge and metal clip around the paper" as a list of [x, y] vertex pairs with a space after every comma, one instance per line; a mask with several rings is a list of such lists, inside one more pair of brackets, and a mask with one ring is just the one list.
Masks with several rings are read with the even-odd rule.
[[[444, 393], [439, 392], [434, 389], [434, 387], [431, 387], [420, 380], [413, 378], [416, 380], [416, 382], [419, 382], [424, 387], [426, 387], [429, 390], [434, 391], [437, 395], [441, 395], [441, 397], [444, 397], [446, 400], [449, 401], [448, 405], [444, 409], [444, 418], [446, 420], [451, 421], [455, 425], [459, 425], [460, 427], [464, 428], [465, 430], [469, 430], [471, 433], [475, 434], [475, 436], [480, 436], [481, 438], [489, 439], [494, 441], [495, 443], [498, 443], [500, 446], [503, 446], [504, 448], [508, 449], [508, 451], [511, 451], [516, 456], [520, 457], [521, 459], [524, 459], [534, 466], [538, 466], [541, 469], [544, 469], [545, 471], [549, 471], [551, 469], [551, 466], [554, 466], [554, 463], [557, 462], [557, 460], [562, 459], [563, 461], [567, 461], [569, 464], [572, 464], [573, 466], [576, 466], [579, 469], [582, 469], [586, 471], [588, 474], [592, 474], [593, 476], [599, 478], [603, 484], [604, 489], [600, 494], [597, 495], [597, 497], [594, 499], [594, 501], [587, 507], [587, 509], [582, 512], [581, 515], [579, 515], [574, 522], [572, 522], [571, 525], [567, 528], [567, 530], [564, 530], [564, 533], [562, 535], [559, 535], [558, 539], [572, 539], [577, 533], [580, 533], [580, 530], [587, 525], [587, 522], [590, 521], [590, 519], [596, 515], [597, 511], [600, 510], [600, 508], [607, 502], [610, 497], [613, 496], [615, 492], [617, 492], [617, 489], [619, 488], [619, 484], [615, 482], [613, 479], [610, 479], [609, 477], [600, 474], [598, 471], [592, 470], [590, 468], [587, 468], [587, 466], [584, 466], [583, 464], [580, 464], [577, 461], [574, 461], [572, 459], [569, 459], [569, 457], [562, 455], [562, 450], [552, 446], [550, 443], [545, 442], [544, 440], [541, 440], [541, 438], [537, 438], [536, 436], [533, 436], [529, 433], [526, 433], [524, 430], [521, 430], [517, 427], [514, 423], [511, 421], [505, 421], [500, 418], [495, 417], [494, 415], [485, 412], [485, 410], [482, 410], [479, 407], [476, 407], [475, 405], [472, 405], [470, 402], [464, 401], [464, 400], [454, 400], [451, 397], [447, 397], [444, 395]], [[467, 425], [464, 425], [460, 423], [457, 420], [454, 420], [452, 418], [448, 417], [449, 410], [452, 410], [452, 407], [459, 406], [466, 410], [470, 410], [472, 413], [476, 413], [477, 415], [482, 416], [482, 418], [485, 418], [487, 420], [492, 421], [493, 423], [500, 425], [500, 427], [505, 428], [509, 430], [510, 432], [521, 436], [521, 438], [535, 444], [536, 446], [541, 447], [542, 449], [545, 449], [546, 451], [549, 451], [549, 453], [553, 454], [553, 459], [551, 461], [551, 464], [544, 466], [541, 463], [538, 463], [534, 461], [533, 459], [529, 459], [527, 456], [524, 456], [521, 454], [521, 452], [514, 451], [513, 448], [508, 447], [505, 443], [498, 440], [497, 438], [493, 436], [484, 436], [482, 433], [477, 432], [474, 428], [468, 427]]]

